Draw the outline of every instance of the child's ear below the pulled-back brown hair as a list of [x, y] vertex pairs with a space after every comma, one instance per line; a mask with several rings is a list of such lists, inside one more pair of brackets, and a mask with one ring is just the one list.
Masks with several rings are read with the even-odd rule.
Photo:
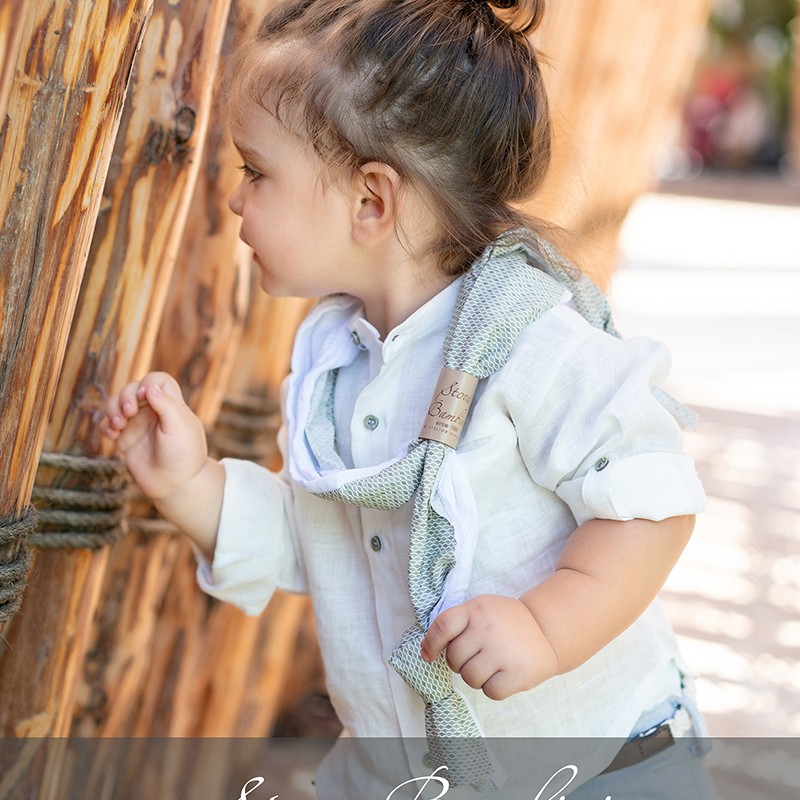
[[352, 207], [353, 237], [368, 240], [394, 235], [400, 176], [388, 164], [370, 161], [356, 170]]

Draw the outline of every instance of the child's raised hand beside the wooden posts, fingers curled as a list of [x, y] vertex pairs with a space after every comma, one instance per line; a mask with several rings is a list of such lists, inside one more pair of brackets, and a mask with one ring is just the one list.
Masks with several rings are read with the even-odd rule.
[[154, 500], [184, 489], [206, 463], [203, 425], [164, 372], [151, 372], [111, 397], [100, 432], [116, 442], [134, 480]]

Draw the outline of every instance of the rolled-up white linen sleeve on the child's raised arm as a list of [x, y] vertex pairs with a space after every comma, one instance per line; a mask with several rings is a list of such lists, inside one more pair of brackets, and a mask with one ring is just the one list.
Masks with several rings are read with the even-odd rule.
[[213, 561], [197, 549], [197, 582], [246, 614], [260, 614], [276, 588], [307, 590], [292, 535], [292, 492], [280, 475], [223, 459], [225, 492]]

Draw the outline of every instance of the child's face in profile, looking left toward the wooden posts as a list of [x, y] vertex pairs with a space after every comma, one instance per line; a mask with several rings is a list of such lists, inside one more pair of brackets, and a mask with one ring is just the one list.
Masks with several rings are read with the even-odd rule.
[[356, 294], [348, 187], [324, 187], [313, 150], [258, 106], [237, 118], [233, 140], [244, 175], [229, 204], [262, 288], [279, 297]]

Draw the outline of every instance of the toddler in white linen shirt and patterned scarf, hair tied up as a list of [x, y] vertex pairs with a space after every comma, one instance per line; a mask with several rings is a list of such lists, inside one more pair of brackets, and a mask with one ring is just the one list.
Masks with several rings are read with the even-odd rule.
[[[235, 56], [230, 207], [266, 292], [322, 298], [284, 385], [284, 469], [210, 459], [163, 373], [101, 423], [205, 591], [248, 614], [276, 587], [311, 594], [345, 729], [321, 798], [434, 772], [435, 796], [534, 797], [523, 762], [546, 779], [559, 737], [591, 738], [562, 793], [641, 797], [642, 768], [673, 761], [683, 783], [647, 796], [706, 796], [655, 600], [704, 505], [668, 355], [617, 337], [516, 205], [550, 156], [542, 13], [274, 8]], [[503, 762], [499, 743], [534, 737]]]

